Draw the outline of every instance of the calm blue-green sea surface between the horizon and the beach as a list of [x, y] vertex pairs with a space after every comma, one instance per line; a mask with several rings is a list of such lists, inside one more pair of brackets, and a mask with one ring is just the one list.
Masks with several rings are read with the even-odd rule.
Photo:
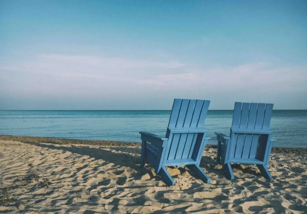
[[[141, 142], [139, 131], [165, 135], [171, 111], [0, 111], [0, 135]], [[214, 132], [229, 134], [233, 111], [208, 111], [209, 144]], [[275, 146], [307, 147], [307, 110], [274, 110]]]

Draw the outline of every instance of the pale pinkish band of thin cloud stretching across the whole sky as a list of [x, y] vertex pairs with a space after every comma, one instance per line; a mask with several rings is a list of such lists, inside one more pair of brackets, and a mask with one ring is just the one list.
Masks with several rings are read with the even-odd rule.
[[[48, 85], [49, 91], [59, 95], [74, 90], [90, 93], [92, 88], [96, 91], [110, 88], [113, 93], [118, 94], [122, 93], [122, 90], [141, 93], [144, 88], [146, 93], [154, 93], [157, 90], [161, 93], [169, 93], [171, 90], [181, 93], [189, 91], [194, 94], [200, 91], [215, 93], [270, 91], [274, 94], [282, 94], [306, 91], [307, 85], [306, 67], [280, 68], [267, 62], [202, 69], [176, 60], [159, 62], [129, 58], [45, 54], [25, 62], [6, 64], [2, 66], [3, 69], [32, 73], [31, 78], [37, 80], [36, 82], [42, 82], [35, 75], [36, 73], [60, 77], [60, 79], [44, 77], [41, 85], [29, 85], [29, 82], [24, 82], [22, 86], [18, 86], [21, 91], [31, 89], [36, 93], [44, 93], [41, 88]], [[7, 75], [7, 78], [17, 78], [17, 76]], [[65, 89], [68, 91], [57, 91], [60, 86], [59, 81], [68, 83], [69, 87]], [[2, 90], [9, 89], [2, 88]], [[17, 89], [15, 91], [17, 93]]]

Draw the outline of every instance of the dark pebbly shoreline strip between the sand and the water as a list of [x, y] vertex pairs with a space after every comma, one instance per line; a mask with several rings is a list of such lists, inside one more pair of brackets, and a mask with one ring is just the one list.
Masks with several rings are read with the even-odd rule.
[[[35, 142], [35, 143], [52, 143], [52, 144], [81, 144], [81, 145], [95, 145], [95, 146], [119, 146], [119, 147], [141, 147], [138, 142], [123, 142], [123, 141], [94, 141], [94, 140], [77, 140], [77, 139], [64, 139], [52, 137], [31, 137], [31, 136], [13, 136], [13, 135], [0, 135], [0, 140], [4, 141], [20, 141], [20, 142]], [[217, 148], [217, 145], [206, 145], [206, 148]], [[296, 153], [307, 152], [307, 148], [285, 148], [273, 147], [273, 153]]]

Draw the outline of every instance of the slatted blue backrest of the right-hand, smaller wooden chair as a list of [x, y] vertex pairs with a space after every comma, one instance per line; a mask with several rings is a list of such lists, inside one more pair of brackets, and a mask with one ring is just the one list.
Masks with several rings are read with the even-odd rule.
[[271, 103], [235, 103], [230, 131], [231, 159], [265, 160], [272, 112]]

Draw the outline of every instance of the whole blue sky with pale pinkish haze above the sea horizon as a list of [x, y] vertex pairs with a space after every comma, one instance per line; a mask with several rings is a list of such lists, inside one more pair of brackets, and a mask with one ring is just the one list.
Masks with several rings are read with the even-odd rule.
[[307, 109], [307, 1], [0, 0], [0, 110]]

